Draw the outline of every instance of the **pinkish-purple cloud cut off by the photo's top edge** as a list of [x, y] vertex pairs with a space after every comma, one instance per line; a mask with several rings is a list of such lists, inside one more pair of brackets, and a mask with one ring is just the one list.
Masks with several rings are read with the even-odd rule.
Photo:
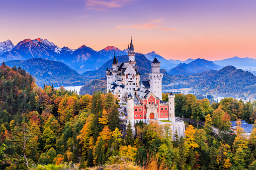
[[84, 0], [90, 10], [107, 10], [110, 8], [121, 8], [134, 0]]

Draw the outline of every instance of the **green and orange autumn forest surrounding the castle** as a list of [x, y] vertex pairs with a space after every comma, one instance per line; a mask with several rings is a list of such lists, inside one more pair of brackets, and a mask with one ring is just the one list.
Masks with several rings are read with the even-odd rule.
[[[203, 128], [187, 125], [180, 138], [167, 123], [139, 122], [135, 128], [128, 123], [122, 135], [120, 106], [111, 93], [41, 88], [24, 69], [5, 63], [0, 78], [0, 169], [256, 169], [256, 127], [245, 136], [239, 126], [240, 120], [255, 121], [255, 101], [210, 104], [176, 94], [176, 115], [204, 120]], [[230, 120], [237, 120], [234, 134]]]

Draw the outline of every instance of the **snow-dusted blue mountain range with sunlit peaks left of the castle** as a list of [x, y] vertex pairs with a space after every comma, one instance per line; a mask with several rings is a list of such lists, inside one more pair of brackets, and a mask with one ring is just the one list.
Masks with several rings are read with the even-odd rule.
[[[114, 54], [113, 54], [114, 55]], [[59, 48], [47, 39], [25, 39], [14, 48], [3, 53], [0, 61], [27, 60], [31, 58], [43, 58], [60, 61], [77, 72], [95, 70], [104, 64], [108, 57], [85, 45], [76, 50], [68, 47]]]

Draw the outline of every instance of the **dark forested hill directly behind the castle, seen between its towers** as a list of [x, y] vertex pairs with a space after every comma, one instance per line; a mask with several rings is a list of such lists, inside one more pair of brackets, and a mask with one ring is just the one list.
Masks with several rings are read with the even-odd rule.
[[[128, 56], [117, 56], [117, 60], [120, 63], [126, 63], [128, 61]], [[139, 73], [142, 75], [141, 80], [146, 80], [148, 73], [151, 71], [151, 61], [148, 60], [143, 54], [135, 54], [136, 66], [138, 67]], [[90, 79], [99, 79], [106, 77], [106, 69], [111, 68], [113, 63], [113, 58], [107, 61], [103, 66], [95, 71], [87, 71], [82, 73], [82, 76], [88, 77]]]

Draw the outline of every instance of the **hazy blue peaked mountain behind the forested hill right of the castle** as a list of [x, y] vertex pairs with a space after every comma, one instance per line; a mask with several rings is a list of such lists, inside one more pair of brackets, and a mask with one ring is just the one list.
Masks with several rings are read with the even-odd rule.
[[192, 75], [195, 73], [202, 73], [210, 70], [220, 70], [222, 66], [219, 66], [212, 61], [205, 59], [196, 59], [189, 64], [180, 63], [178, 66], [168, 72], [169, 75]]

